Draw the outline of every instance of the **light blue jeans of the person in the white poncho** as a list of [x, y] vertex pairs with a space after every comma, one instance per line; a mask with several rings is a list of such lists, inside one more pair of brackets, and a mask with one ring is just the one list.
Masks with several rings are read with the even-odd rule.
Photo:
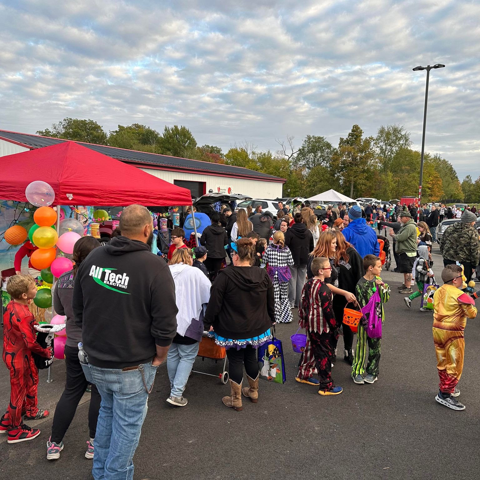
[[167, 370], [172, 389], [171, 396], [180, 398], [183, 395], [199, 347], [200, 342], [195, 342], [193, 345], [180, 345], [179, 343], [170, 345], [167, 355]]

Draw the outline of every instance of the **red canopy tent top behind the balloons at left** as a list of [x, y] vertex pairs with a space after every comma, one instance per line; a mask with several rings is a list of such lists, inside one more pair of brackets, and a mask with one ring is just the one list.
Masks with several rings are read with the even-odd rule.
[[0, 158], [0, 199], [26, 202], [25, 189], [43, 180], [54, 204], [126, 206], [191, 205], [190, 190], [75, 142], [63, 142]]

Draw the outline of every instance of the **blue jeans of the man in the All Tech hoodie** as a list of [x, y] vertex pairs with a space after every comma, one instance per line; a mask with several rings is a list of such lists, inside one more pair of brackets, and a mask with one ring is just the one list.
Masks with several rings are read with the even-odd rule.
[[[95, 480], [131, 480], [133, 454], [147, 413], [148, 393], [139, 369], [122, 370], [82, 365], [102, 402], [96, 426], [92, 474]], [[150, 389], [157, 367], [144, 364], [146, 388]]]

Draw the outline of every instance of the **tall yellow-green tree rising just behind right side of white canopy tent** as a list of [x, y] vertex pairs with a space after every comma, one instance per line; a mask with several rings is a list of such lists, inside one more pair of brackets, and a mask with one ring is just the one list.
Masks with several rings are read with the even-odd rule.
[[374, 168], [374, 139], [362, 138], [362, 135], [362, 129], [358, 125], [353, 125], [347, 138], [340, 138], [338, 148], [332, 156], [331, 168], [343, 191], [348, 191], [349, 187], [350, 197], [353, 197], [355, 185], [357, 191], [363, 194]]

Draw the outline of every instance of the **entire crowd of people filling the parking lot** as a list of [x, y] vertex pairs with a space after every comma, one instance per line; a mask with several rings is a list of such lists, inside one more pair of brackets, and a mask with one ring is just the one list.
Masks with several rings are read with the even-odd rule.
[[[156, 226], [150, 212], [130, 205], [120, 217], [120, 235], [106, 245], [100, 247], [92, 237], [78, 240], [74, 268], [60, 277], [54, 290], [55, 310], [67, 317], [67, 381], [55, 410], [47, 458], [60, 457], [65, 432], [91, 384], [85, 456], [93, 458], [93, 476], [131, 479], [158, 366], [167, 363], [168, 404], [187, 405], [183, 393], [208, 331], [217, 346], [226, 348], [228, 358], [230, 390], [221, 400], [240, 411], [245, 399], [258, 402], [257, 348], [273, 339], [273, 325], [292, 322], [297, 308], [300, 327], [307, 334], [297, 382], [316, 385], [322, 396], [342, 393], [343, 387], [332, 378], [340, 331], [353, 383], [376, 382], [381, 357], [378, 330], [390, 288], [380, 276], [383, 261], [374, 227], [389, 228], [394, 271], [404, 280], [399, 291], [408, 294], [405, 303], [411, 308], [424, 285], [433, 281], [433, 228], [446, 213], [433, 205], [425, 221], [416, 223], [408, 207], [401, 205], [344, 204], [322, 212], [315, 214], [306, 203], [290, 213], [279, 202], [274, 220], [261, 206], [255, 212], [225, 207], [211, 214], [211, 225], [204, 228], [193, 251], [184, 230], [174, 228], [162, 258], [161, 252], [152, 255]], [[463, 365], [466, 317], [477, 313], [473, 300], [460, 289], [480, 261], [476, 221], [475, 213], [465, 209], [440, 243], [445, 285], [435, 292], [434, 302], [440, 376], [436, 400], [454, 409], [465, 408], [456, 400], [456, 384]], [[413, 292], [412, 282], [418, 292]], [[4, 360], [11, 372], [12, 397], [0, 433], [16, 443], [40, 433], [23, 419], [48, 415], [36, 406], [38, 377], [31, 380], [35, 377], [31, 355], [48, 358], [52, 352], [35, 341], [35, 318], [28, 310], [36, 294], [32, 277], [19, 272], [7, 289], [12, 302], [4, 317], [8, 325]], [[345, 309], [365, 309], [372, 302], [374, 313], [361, 318], [354, 348], [354, 331], [342, 324]], [[451, 345], [445, 338], [452, 340]], [[79, 342], [86, 360], [79, 357]], [[248, 386], [243, 386], [244, 371]]]

